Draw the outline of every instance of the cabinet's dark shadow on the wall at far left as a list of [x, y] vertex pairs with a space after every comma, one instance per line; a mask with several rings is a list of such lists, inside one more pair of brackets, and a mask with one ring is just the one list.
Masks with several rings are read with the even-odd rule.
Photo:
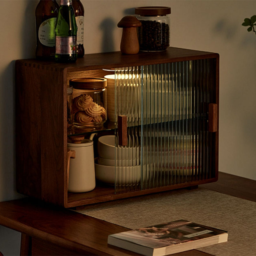
[[15, 60], [0, 74], [0, 94], [0, 201], [5, 201], [21, 197], [16, 192]]

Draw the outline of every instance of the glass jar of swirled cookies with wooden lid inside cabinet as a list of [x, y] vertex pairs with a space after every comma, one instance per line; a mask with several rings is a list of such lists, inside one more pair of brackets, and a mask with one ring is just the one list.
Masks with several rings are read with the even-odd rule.
[[73, 87], [75, 132], [100, 129], [107, 120], [107, 79], [75, 78], [69, 81], [69, 85]]

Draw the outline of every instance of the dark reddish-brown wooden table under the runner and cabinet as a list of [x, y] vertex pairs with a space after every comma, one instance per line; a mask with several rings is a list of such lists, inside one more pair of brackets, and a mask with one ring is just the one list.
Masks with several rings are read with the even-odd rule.
[[[217, 182], [200, 187], [256, 202], [256, 180], [220, 172]], [[31, 198], [0, 202], [0, 225], [21, 232], [20, 255], [137, 255], [107, 243], [109, 234], [128, 228]]]

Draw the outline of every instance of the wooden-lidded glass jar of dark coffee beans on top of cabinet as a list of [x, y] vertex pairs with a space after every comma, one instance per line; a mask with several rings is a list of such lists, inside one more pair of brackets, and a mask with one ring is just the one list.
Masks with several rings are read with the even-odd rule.
[[140, 51], [160, 52], [170, 46], [170, 13], [171, 8], [164, 6], [135, 8], [141, 22], [138, 28]]

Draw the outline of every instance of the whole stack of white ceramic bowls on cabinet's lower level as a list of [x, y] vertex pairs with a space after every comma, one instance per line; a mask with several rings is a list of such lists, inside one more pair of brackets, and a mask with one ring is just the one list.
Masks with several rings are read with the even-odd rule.
[[[131, 140], [131, 139], [130, 139]], [[115, 135], [98, 139], [98, 162], [95, 163], [96, 179], [108, 185], [133, 186], [140, 182], [139, 147], [128, 143], [118, 146]]]

